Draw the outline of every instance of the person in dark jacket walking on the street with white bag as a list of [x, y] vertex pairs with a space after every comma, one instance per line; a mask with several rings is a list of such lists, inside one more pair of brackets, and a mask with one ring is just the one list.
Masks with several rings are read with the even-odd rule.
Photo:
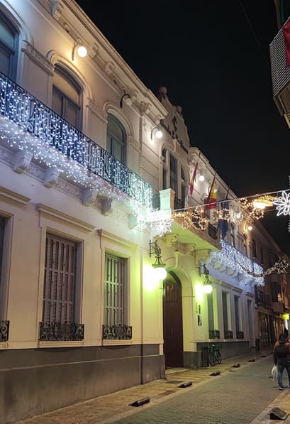
[[277, 380], [279, 390], [284, 390], [283, 372], [286, 369], [290, 386], [290, 342], [289, 335], [284, 333], [279, 336], [273, 348], [274, 364], [277, 365]]

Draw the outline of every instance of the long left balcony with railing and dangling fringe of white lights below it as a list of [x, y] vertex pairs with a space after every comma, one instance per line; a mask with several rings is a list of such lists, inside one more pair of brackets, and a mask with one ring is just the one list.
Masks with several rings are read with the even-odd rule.
[[111, 191], [112, 197], [117, 189], [117, 198], [124, 194], [152, 206], [149, 183], [1, 73], [0, 135], [13, 152], [57, 168], [81, 187], [101, 196]]

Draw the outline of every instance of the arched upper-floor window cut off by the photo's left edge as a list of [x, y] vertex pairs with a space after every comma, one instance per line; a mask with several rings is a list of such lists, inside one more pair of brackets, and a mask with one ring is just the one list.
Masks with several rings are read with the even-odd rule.
[[18, 33], [0, 13], [0, 72], [15, 80], [18, 50]]

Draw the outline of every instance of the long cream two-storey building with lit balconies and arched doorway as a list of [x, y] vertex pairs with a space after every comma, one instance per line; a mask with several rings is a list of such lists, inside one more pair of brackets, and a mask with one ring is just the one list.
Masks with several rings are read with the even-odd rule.
[[213, 342], [223, 358], [269, 345], [289, 293], [262, 265], [284, 256], [248, 231], [167, 89], [155, 97], [74, 0], [2, 0], [0, 46], [3, 422], [200, 366]]

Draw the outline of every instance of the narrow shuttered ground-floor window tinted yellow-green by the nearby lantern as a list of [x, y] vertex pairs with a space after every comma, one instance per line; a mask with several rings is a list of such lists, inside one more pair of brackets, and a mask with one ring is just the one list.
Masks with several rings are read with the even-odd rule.
[[127, 324], [127, 260], [106, 254], [104, 324]]

